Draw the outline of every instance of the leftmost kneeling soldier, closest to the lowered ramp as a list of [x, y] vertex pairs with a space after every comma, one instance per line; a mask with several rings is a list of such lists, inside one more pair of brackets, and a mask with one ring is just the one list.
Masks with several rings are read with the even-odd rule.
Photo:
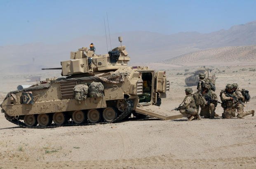
[[187, 95], [178, 107], [178, 110], [180, 110], [180, 113], [183, 114], [183, 116], [188, 117], [188, 121], [195, 118], [200, 119], [197, 115], [197, 106], [195, 105], [195, 100], [192, 94], [193, 90], [191, 88], [186, 88], [185, 91]]

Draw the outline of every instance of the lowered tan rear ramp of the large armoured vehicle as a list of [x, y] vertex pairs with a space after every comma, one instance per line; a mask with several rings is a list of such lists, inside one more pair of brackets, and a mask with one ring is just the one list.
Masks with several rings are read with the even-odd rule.
[[161, 120], [179, 119], [183, 117], [182, 114], [176, 115], [174, 113], [167, 112], [156, 105], [143, 106], [139, 103], [135, 111]]

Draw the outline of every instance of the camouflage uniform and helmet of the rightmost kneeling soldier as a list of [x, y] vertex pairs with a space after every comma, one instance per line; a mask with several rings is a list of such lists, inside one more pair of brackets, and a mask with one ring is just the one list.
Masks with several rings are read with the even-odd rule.
[[[237, 99], [244, 102], [244, 96], [242, 95], [241, 90], [238, 88], [238, 85], [236, 83], [233, 84], [233, 91]], [[237, 118], [239, 119], [243, 119], [243, 116], [247, 116], [249, 114], [252, 114], [252, 116], [254, 116], [254, 110], [244, 112], [244, 106], [239, 102], [237, 102], [232, 108], [233, 109], [231, 115], [233, 116], [235, 110], [237, 110]]]

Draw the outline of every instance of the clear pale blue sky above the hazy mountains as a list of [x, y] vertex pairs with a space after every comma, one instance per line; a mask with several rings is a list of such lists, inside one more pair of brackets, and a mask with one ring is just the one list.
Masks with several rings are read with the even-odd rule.
[[209, 33], [256, 20], [256, 0], [0, 0], [0, 46], [83, 35]]

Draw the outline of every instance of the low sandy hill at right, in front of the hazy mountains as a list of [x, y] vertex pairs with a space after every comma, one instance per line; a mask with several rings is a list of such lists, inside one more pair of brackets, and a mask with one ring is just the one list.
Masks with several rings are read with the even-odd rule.
[[180, 65], [255, 64], [256, 46], [229, 46], [200, 50], [167, 59], [165, 63]]

